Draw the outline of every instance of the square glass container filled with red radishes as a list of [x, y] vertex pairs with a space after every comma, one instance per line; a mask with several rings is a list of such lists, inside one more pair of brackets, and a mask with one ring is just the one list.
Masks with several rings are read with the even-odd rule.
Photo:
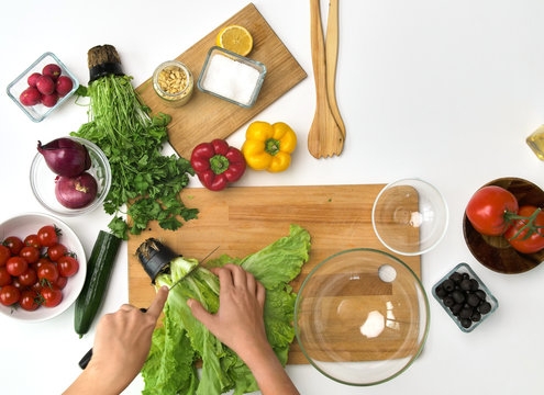
[[78, 89], [77, 78], [45, 53], [8, 86], [8, 95], [34, 122], [43, 121]]

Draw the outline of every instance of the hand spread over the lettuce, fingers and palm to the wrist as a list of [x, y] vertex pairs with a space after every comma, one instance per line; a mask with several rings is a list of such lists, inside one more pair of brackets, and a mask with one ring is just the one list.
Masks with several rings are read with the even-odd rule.
[[198, 301], [189, 300], [195, 318], [243, 360], [252, 350], [269, 348], [263, 320], [263, 284], [240, 266], [229, 263], [212, 271], [220, 282], [219, 311], [212, 315]]

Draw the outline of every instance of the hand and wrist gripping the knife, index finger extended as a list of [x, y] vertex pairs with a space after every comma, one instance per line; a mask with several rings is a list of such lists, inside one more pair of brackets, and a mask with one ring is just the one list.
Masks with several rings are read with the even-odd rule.
[[119, 394], [138, 374], [149, 353], [152, 335], [168, 297], [162, 286], [146, 313], [124, 304], [97, 327], [92, 358], [65, 394]]

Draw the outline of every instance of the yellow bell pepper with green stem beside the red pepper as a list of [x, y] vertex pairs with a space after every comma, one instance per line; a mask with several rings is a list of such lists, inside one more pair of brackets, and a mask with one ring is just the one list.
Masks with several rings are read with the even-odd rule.
[[247, 127], [242, 154], [252, 169], [278, 172], [289, 167], [296, 146], [297, 135], [286, 123], [257, 121]]

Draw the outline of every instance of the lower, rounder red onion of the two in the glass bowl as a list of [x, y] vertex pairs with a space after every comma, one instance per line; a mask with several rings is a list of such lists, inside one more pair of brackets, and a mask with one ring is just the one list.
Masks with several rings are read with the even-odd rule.
[[58, 203], [67, 208], [82, 208], [97, 198], [97, 180], [84, 172], [76, 177], [59, 176], [56, 179], [55, 195]]

